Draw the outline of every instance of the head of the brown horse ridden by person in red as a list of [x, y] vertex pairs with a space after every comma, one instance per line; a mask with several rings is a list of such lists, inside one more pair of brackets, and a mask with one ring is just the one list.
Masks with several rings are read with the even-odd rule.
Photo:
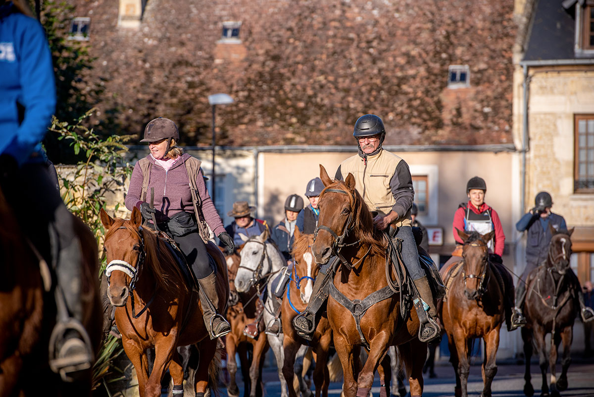
[[492, 240], [495, 231], [482, 235], [474, 231], [466, 234], [458, 228], [456, 230], [464, 242], [462, 248], [462, 257], [464, 259], [464, 270], [462, 273], [465, 285], [464, 295], [469, 300], [478, 300], [482, 292], [484, 292], [483, 284], [489, 263], [489, 248], [487, 244]]

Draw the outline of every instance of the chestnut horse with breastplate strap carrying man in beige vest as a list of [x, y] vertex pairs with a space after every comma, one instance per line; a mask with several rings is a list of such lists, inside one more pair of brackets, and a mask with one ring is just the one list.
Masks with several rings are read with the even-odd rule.
[[[398, 281], [394, 281], [393, 267], [386, 269], [386, 238], [374, 228], [371, 212], [355, 190], [352, 174], [347, 175], [344, 182], [332, 181], [320, 165], [320, 178], [325, 188], [318, 202], [320, 216], [312, 253], [320, 264], [327, 263], [333, 253], [342, 261], [330, 284], [327, 316], [343, 367], [343, 392], [346, 397], [366, 397], [378, 370], [380, 396], [389, 396], [391, 368], [387, 351], [391, 345], [399, 345], [409, 374], [410, 394], [420, 396], [427, 344], [417, 337], [419, 319], [412, 305], [405, 304], [402, 312], [400, 294], [388, 291], [388, 287]], [[377, 302], [365, 311], [364, 304], [368, 301], [362, 301], [375, 292], [390, 295], [380, 301], [375, 299], [377, 294], [373, 295], [368, 301]], [[335, 296], [342, 297], [342, 301], [349, 300], [356, 313], [345, 308]], [[356, 318], [360, 320], [360, 327]], [[369, 357], [355, 379], [353, 350], [360, 345], [368, 346]]]

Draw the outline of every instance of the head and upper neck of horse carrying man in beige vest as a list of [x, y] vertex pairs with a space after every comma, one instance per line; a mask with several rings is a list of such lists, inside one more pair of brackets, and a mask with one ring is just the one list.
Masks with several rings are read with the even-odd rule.
[[374, 229], [371, 212], [355, 190], [353, 174], [349, 172], [344, 182], [332, 181], [326, 168], [320, 164], [320, 178], [325, 188], [318, 201], [320, 217], [312, 244], [315, 261], [327, 263], [333, 251], [356, 240], [361, 244], [371, 244], [374, 251], [380, 252], [384, 239]]

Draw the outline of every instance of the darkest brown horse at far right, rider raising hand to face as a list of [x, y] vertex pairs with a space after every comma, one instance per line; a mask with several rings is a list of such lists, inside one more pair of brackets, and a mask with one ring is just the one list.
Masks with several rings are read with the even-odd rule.
[[[550, 226], [550, 225], [549, 225]], [[576, 288], [579, 287], [576, 276], [569, 267], [571, 256], [570, 231], [551, 230], [552, 238], [546, 261], [529, 273], [526, 280], [526, 301], [524, 313], [526, 325], [522, 328], [526, 372], [524, 393], [534, 394], [530, 383], [530, 357], [533, 346], [539, 354], [539, 365], [542, 373], [541, 395], [549, 395], [546, 382], [546, 370], [551, 368], [551, 396], [559, 396], [559, 390], [567, 389], [567, 369], [571, 363], [570, 346], [573, 339], [573, 323], [579, 311], [575, 301]], [[545, 336], [551, 333], [551, 351], [546, 357]], [[557, 349], [563, 341], [563, 359], [561, 360], [561, 376], [557, 380], [555, 362]]]

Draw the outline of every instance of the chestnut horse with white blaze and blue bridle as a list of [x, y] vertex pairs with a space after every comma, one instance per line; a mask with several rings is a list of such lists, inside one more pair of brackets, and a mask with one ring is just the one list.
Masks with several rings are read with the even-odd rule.
[[328, 361], [328, 350], [332, 342], [332, 329], [326, 317], [322, 317], [318, 322], [314, 336], [311, 342], [307, 342], [297, 335], [293, 329], [293, 318], [305, 310], [311, 298], [313, 281], [320, 268], [314, 263], [314, 256], [311, 253], [311, 245], [314, 243], [314, 236], [311, 234], [301, 234], [299, 228], [295, 228], [295, 242], [293, 242], [293, 271], [287, 286], [287, 292], [283, 297], [281, 308], [283, 333], [283, 348], [285, 348], [285, 363], [283, 365], [283, 375], [289, 386], [289, 396], [297, 397], [298, 392], [293, 385], [293, 376], [295, 376], [294, 364], [297, 351], [301, 345], [308, 344], [313, 349], [315, 369], [314, 384], [315, 397], [327, 397], [328, 385], [330, 384], [330, 374], [326, 365]]

